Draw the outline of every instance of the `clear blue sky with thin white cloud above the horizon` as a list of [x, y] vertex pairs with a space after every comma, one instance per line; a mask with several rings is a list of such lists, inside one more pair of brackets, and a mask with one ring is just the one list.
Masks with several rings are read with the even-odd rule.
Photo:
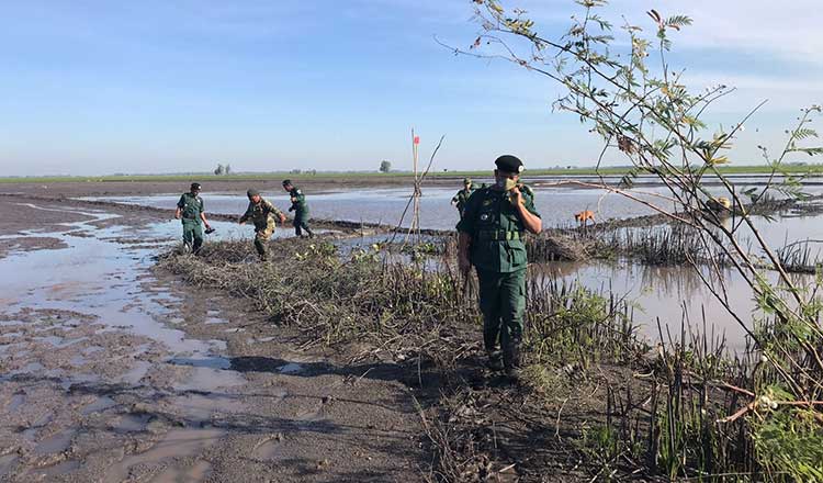
[[[522, 0], [556, 37], [571, 0]], [[739, 92], [712, 121], [769, 99], [733, 160], [778, 147], [799, 108], [823, 102], [823, 34], [812, 0], [615, 0], [686, 13], [687, 82]], [[816, 15], [816, 18], [815, 18]], [[8, 1], [0, 20], [0, 166], [9, 175], [410, 167], [409, 128], [438, 169], [589, 165], [596, 137], [552, 113], [556, 85], [497, 61], [455, 57], [477, 26], [471, 0]]]

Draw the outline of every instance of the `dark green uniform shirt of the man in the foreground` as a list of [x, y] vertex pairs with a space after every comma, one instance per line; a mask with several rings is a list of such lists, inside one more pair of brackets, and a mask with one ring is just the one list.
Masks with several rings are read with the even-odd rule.
[[[526, 210], [535, 216], [533, 193], [520, 186]], [[469, 198], [458, 231], [472, 236], [470, 259], [478, 270], [511, 273], [528, 265], [526, 226], [509, 201], [509, 193], [481, 188]]]

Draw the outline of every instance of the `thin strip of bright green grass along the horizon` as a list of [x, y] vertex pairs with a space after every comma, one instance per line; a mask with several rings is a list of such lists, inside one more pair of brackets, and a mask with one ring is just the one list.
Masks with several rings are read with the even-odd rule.
[[[794, 175], [823, 175], [823, 165], [786, 165], [785, 170]], [[465, 178], [465, 177], [488, 177], [492, 173], [492, 167], [485, 170], [473, 171], [433, 171], [429, 176], [432, 178]], [[606, 167], [596, 170], [594, 167], [580, 168], [550, 168], [527, 170], [526, 176], [622, 176], [629, 168], [627, 167]], [[766, 166], [725, 166], [721, 171], [726, 175], [758, 175], [768, 173]], [[261, 181], [261, 180], [282, 180], [293, 178], [295, 180], [352, 180], [358, 178], [375, 179], [402, 179], [410, 178], [412, 173], [407, 171], [382, 173], [376, 171], [345, 171], [345, 172], [318, 172], [317, 175], [292, 173], [292, 172], [244, 172], [228, 176], [215, 176], [212, 173], [190, 173], [190, 175], [112, 175], [112, 176], [45, 176], [45, 177], [7, 177], [0, 178], [0, 183], [59, 183], [59, 182], [164, 182], [164, 181]]]

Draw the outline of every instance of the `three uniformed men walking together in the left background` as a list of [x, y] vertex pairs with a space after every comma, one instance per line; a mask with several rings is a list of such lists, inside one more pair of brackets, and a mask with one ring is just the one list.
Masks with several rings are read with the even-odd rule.
[[[203, 246], [203, 226], [206, 228], [206, 234], [214, 232], [205, 215], [205, 205], [203, 199], [200, 198], [201, 190], [202, 187], [200, 183], [191, 183], [189, 192], [180, 196], [177, 203], [177, 211], [174, 212], [174, 217], [182, 220], [183, 223], [183, 244], [195, 255]], [[292, 203], [289, 211], [294, 212], [294, 220], [292, 221], [294, 234], [303, 237], [305, 232], [305, 236], [314, 237], [314, 232], [308, 227], [308, 203], [303, 190], [295, 187], [288, 179], [283, 180], [283, 190], [289, 192]], [[266, 242], [274, 234], [278, 222], [280, 224], [285, 223], [285, 214], [278, 210], [270, 201], [261, 196], [258, 190], [249, 189], [246, 195], [249, 199], [249, 205], [246, 209], [246, 213], [240, 216], [239, 223], [240, 225], [247, 222], [253, 223], [255, 248], [260, 259], [266, 260]]]

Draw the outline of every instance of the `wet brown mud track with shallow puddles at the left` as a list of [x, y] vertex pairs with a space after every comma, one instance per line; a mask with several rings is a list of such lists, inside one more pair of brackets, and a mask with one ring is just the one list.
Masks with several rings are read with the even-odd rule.
[[404, 383], [154, 273], [145, 220], [4, 198], [0, 222], [0, 481], [420, 480]]

